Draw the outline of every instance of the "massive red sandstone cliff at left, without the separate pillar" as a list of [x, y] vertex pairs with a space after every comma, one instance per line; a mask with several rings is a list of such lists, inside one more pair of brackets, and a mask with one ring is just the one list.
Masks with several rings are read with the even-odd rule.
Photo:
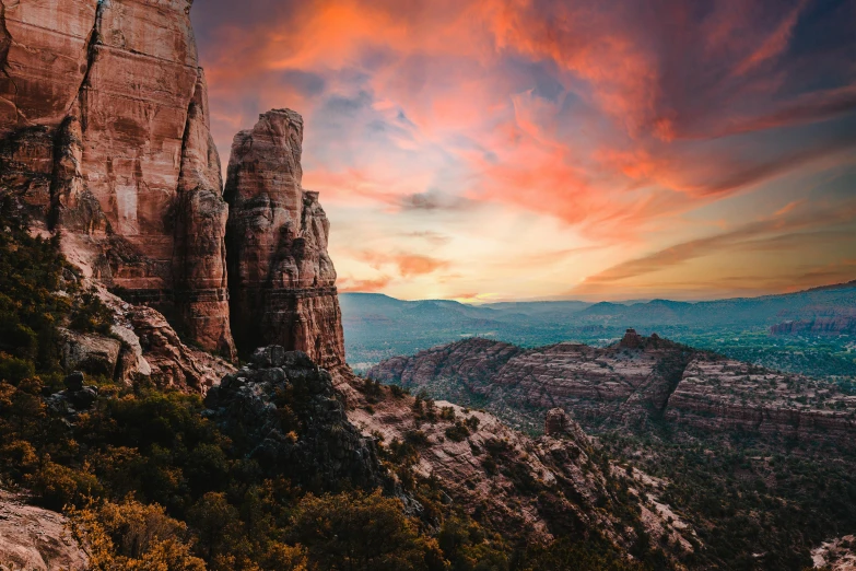
[[93, 276], [234, 358], [191, 0], [0, 5], [0, 183]]

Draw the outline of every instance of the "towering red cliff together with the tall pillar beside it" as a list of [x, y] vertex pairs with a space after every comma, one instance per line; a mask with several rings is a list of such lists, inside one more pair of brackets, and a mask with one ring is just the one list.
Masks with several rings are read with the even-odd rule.
[[209, 351], [236, 358], [235, 319], [244, 352], [275, 342], [342, 364], [329, 223], [301, 187], [303, 120], [271, 112], [236, 137], [230, 217], [191, 4], [0, 3], [0, 194]]

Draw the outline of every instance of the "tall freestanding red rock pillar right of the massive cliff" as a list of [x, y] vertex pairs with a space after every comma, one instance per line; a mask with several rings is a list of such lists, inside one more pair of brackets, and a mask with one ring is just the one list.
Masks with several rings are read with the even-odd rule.
[[235, 136], [225, 198], [232, 326], [238, 348], [266, 343], [344, 363], [329, 222], [318, 194], [301, 186], [303, 119], [274, 109]]

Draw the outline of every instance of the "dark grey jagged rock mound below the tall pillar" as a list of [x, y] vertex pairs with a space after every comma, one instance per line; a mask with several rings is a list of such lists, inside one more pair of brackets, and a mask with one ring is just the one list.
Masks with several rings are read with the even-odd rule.
[[298, 351], [257, 350], [206, 397], [208, 416], [262, 469], [313, 491], [389, 483], [376, 448], [348, 421], [332, 377]]

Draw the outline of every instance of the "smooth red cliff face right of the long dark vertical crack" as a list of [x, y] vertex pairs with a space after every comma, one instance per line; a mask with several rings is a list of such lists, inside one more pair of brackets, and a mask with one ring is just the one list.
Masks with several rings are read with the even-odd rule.
[[115, 264], [128, 290], [171, 290], [181, 147], [197, 84], [186, 0], [98, 4], [79, 108], [81, 171], [113, 231], [140, 255]]

